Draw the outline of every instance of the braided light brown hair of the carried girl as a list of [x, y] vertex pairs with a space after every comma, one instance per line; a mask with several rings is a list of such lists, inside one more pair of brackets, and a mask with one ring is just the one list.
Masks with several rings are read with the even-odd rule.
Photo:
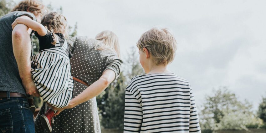
[[52, 44], [55, 44], [56, 41], [59, 39], [57, 36], [54, 35], [54, 33], [64, 33], [64, 37], [68, 38], [68, 25], [66, 18], [57, 12], [51, 12], [43, 16], [43, 19], [41, 21], [41, 24], [47, 28], [48, 31], [51, 31], [54, 36], [54, 42]]

